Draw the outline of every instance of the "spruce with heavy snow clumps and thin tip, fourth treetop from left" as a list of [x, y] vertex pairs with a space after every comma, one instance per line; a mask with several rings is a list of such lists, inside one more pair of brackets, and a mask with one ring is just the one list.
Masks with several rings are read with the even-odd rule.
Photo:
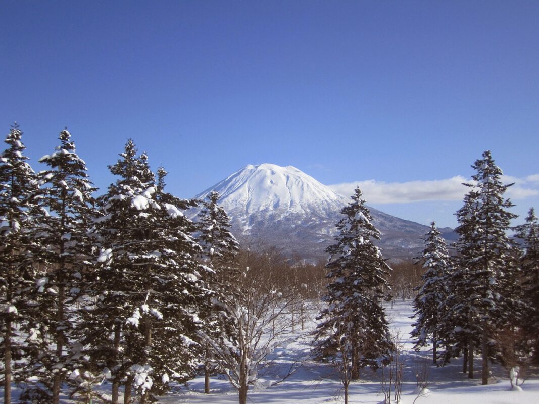
[[[162, 207], [158, 220], [162, 231], [157, 239], [162, 240], [161, 248], [169, 256], [168, 266], [161, 275], [167, 281], [158, 289], [163, 296], [163, 322], [156, 329], [153, 362], [157, 374], [166, 374], [170, 381], [185, 382], [193, 377], [198, 365], [198, 336], [210, 326], [204, 312], [209, 310], [208, 301], [213, 292], [204, 282], [211, 271], [196, 261], [201, 253], [201, 246], [193, 236], [197, 228], [182, 213], [196, 206], [196, 201], [165, 192], [166, 175], [163, 168], [157, 170], [156, 199]], [[158, 379], [156, 387], [156, 392], [163, 393], [169, 382]]]

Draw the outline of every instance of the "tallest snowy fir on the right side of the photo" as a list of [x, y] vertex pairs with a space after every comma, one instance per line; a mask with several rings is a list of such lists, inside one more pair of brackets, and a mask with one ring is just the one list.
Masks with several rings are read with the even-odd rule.
[[[489, 358], [496, 353], [493, 338], [503, 328], [520, 317], [519, 273], [515, 265], [515, 246], [507, 232], [516, 217], [508, 211], [513, 204], [503, 195], [510, 185], [501, 183], [502, 171], [495, 165], [489, 151], [475, 161], [472, 168], [474, 184], [457, 212], [459, 226], [455, 244], [459, 253], [458, 266], [452, 283], [459, 286], [450, 297], [454, 316], [465, 321], [468, 338], [468, 360], [473, 363], [473, 351], [482, 355], [482, 383], [488, 384]], [[480, 338], [480, 346], [477, 339]], [[473, 369], [469, 370], [473, 375]]]

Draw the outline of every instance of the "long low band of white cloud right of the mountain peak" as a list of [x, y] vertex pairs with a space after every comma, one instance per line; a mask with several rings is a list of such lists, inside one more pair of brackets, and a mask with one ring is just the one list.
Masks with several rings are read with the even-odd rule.
[[[512, 199], [525, 199], [539, 195], [539, 174], [524, 178], [504, 176], [506, 184], [515, 183], [507, 191], [507, 197]], [[419, 180], [403, 183], [386, 183], [369, 179], [352, 183], [329, 185], [330, 189], [348, 196], [354, 193], [356, 186], [363, 191], [365, 199], [371, 204], [410, 203], [424, 200], [462, 200], [469, 188], [462, 183], [471, 183], [471, 180], [462, 176], [455, 176], [439, 180]]]

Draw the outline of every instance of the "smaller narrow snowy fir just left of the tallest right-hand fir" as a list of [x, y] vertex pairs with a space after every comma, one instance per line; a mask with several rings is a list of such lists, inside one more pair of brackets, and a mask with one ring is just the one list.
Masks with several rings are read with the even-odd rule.
[[425, 248], [418, 261], [426, 270], [421, 276], [423, 285], [417, 289], [418, 294], [413, 302], [412, 318], [417, 318], [417, 320], [411, 332], [412, 337], [417, 339], [414, 345], [416, 350], [432, 344], [432, 358], [435, 364], [437, 348], [440, 344], [438, 336], [440, 318], [443, 317], [440, 309], [448, 294], [446, 280], [450, 267], [447, 246], [440, 234], [436, 228], [436, 222], [432, 222], [429, 232], [425, 234]]

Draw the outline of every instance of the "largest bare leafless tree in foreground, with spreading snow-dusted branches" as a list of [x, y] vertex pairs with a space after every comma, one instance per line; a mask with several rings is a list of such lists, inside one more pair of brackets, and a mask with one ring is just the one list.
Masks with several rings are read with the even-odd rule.
[[[226, 308], [222, 314], [230, 316], [235, 325], [232, 335], [218, 339], [209, 335], [202, 337], [211, 345], [213, 359], [238, 392], [239, 403], [245, 404], [250, 386], [259, 389], [275, 385], [299, 366], [299, 361], [292, 360], [288, 370], [284, 373], [279, 370], [279, 377], [272, 375], [274, 381], [264, 384], [258, 381], [262, 375], [271, 373], [274, 361], [280, 357], [275, 351], [298, 338], [292, 333], [291, 311], [301, 297], [293, 288], [278, 287], [284, 274], [275, 270], [276, 264], [282, 261], [274, 252], [247, 252], [241, 259], [250, 266], [244, 266], [238, 280], [239, 297], [224, 297], [224, 301], [216, 302]], [[297, 316], [295, 320], [299, 321]]]

